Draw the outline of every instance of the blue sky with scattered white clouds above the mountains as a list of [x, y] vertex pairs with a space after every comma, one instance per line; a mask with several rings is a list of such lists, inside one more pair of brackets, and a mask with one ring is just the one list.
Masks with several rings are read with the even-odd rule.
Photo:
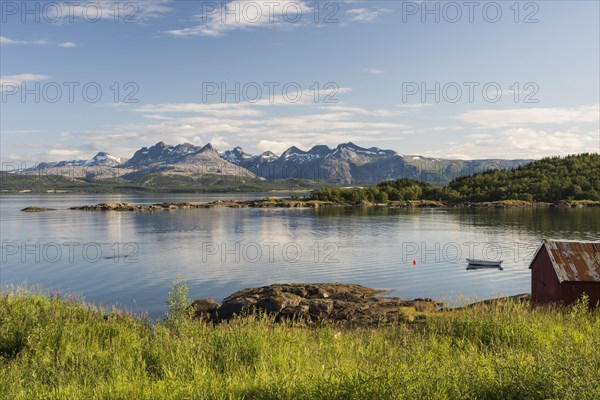
[[0, 2], [0, 156], [600, 151], [598, 1]]

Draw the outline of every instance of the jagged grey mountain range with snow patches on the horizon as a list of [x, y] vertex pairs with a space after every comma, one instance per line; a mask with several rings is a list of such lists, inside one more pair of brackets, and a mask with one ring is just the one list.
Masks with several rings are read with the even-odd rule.
[[88, 179], [140, 179], [154, 174], [186, 176], [226, 175], [254, 179], [306, 179], [334, 184], [368, 184], [387, 179], [413, 178], [447, 183], [488, 169], [511, 169], [532, 160], [451, 160], [402, 155], [378, 147], [342, 143], [335, 148], [316, 145], [310, 150], [290, 147], [281, 155], [271, 151], [253, 155], [241, 147], [219, 151], [210, 143], [142, 147], [127, 160], [100, 152], [89, 160], [39, 163], [21, 173], [64, 175]]

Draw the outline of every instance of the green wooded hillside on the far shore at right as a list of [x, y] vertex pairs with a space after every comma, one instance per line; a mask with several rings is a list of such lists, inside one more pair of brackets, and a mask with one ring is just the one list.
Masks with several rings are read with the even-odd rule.
[[[600, 154], [544, 158], [511, 170], [453, 179], [447, 186], [403, 178], [366, 188], [325, 188], [312, 199], [335, 202], [561, 202], [600, 200]], [[583, 203], [582, 203], [583, 204]]]

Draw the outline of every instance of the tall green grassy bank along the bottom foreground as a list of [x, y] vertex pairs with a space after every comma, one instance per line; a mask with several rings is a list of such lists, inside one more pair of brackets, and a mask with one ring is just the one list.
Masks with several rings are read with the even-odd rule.
[[378, 329], [151, 323], [0, 296], [3, 399], [597, 399], [600, 314], [478, 305]]

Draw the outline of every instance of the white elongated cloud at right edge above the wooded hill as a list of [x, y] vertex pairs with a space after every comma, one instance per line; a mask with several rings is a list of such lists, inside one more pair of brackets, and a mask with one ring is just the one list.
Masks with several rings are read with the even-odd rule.
[[523, 108], [471, 110], [456, 118], [485, 128], [508, 128], [530, 124], [586, 123], [600, 120], [600, 104], [574, 108]]

